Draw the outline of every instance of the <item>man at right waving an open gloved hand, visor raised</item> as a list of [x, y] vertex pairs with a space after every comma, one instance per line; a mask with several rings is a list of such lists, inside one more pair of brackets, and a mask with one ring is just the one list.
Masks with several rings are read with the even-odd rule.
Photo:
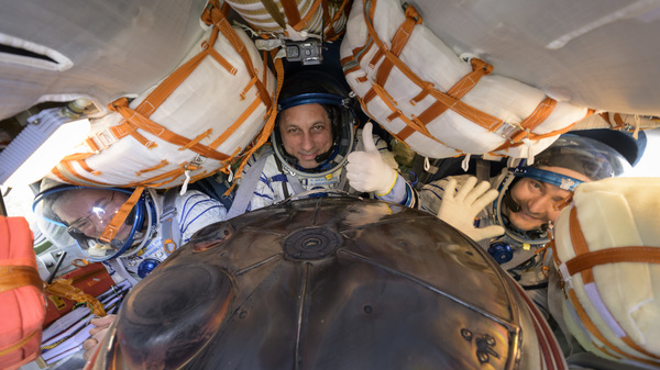
[[[486, 166], [487, 167], [487, 166]], [[630, 165], [598, 141], [564, 134], [534, 158], [509, 159], [507, 168], [487, 179], [463, 175], [430, 182], [419, 191], [422, 210], [477, 242], [547, 307], [547, 278], [539, 251], [548, 233], [580, 183], [615, 177]]]

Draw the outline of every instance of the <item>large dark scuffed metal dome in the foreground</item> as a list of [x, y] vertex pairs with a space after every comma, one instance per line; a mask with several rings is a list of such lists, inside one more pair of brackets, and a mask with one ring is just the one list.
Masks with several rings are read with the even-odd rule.
[[542, 369], [554, 339], [532, 313], [433, 215], [307, 199], [196, 234], [131, 291], [94, 368]]

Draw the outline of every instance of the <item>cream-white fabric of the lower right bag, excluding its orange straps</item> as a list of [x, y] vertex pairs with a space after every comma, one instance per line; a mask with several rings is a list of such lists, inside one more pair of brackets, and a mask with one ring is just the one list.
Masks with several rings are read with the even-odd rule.
[[[573, 204], [562, 211], [556, 225], [557, 257], [561, 262], [575, 257], [569, 232], [569, 213], [573, 208], [590, 251], [660, 248], [658, 194], [660, 178], [612, 178], [580, 184]], [[580, 273], [571, 280], [581, 305], [600, 333], [631, 358], [652, 360], [626, 345], [620, 339], [623, 336], [660, 356], [660, 266], [645, 261], [617, 262], [596, 266], [592, 271], [593, 284], [585, 287]], [[572, 310], [571, 305], [571, 301], [566, 301]], [[575, 316], [566, 315], [565, 311], [563, 316], [581, 345], [594, 348], [591, 341], [595, 338], [584, 335], [581, 325], [572, 322]]]

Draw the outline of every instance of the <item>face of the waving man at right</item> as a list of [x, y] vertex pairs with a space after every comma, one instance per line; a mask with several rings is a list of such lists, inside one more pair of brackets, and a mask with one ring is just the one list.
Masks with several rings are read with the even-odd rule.
[[[578, 180], [590, 181], [584, 175], [563, 167], [541, 166], [539, 168], [570, 176]], [[563, 190], [554, 184], [530, 178], [521, 178], [510, 189], [510, 195], [520, 206], [520, 211], [513, 212], [508, 208], [504, 208], [503, 212], [514, 226], [522, 231], [536, 229], [550, 221], [557, 221], [561, 210], [556, 210], [554, 203], [562, 201], [570, 194], [571, 191]]]

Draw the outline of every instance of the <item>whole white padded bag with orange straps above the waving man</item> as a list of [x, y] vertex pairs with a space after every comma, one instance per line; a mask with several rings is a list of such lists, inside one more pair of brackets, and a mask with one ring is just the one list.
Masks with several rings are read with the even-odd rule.
[[530, 158], [590, 112], [466, 63], [398, 0], [353, 2], [341, 59], [365, 113], [427, 157]]

